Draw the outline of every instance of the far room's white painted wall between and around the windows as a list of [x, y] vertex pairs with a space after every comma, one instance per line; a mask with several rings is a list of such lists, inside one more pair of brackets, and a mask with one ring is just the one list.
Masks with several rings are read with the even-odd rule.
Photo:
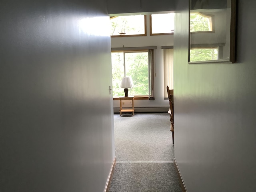
[[[111, 47], [142, 47], [157, 46], [155, 56], [155, 100], [134, 100], [134, 107], [168, 107], [168, 100], [164, 100], [164, 59], [161, 46], [173, 45], [173, 34], [150, 36], [149, 15], [147, 15], [147, 36], [138, 37], [114, 37], [111, 38]], [[114, 100], [114, 108], [119, 108], [118, 100]], [[168, 108], [167, 108], [168, 111]]]

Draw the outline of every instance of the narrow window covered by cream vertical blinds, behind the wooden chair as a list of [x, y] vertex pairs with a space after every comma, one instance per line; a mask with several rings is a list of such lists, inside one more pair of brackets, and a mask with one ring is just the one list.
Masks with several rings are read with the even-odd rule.
[[164, 48], [164, 98], [168, 99], [166, 87], [173, 89], [173, 46]]

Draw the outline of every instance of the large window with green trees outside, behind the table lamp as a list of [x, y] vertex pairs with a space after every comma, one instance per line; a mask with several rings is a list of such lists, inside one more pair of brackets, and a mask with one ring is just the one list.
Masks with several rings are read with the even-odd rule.
[[124, 88], [120, 88], [122, 77], [130, 76], [134, 87], [129, 88], [129, 95], [149, 96], [153, 98], [152, 84], [153, 50], [115, 51], [112, 59], [113, 96], [124, 96]]

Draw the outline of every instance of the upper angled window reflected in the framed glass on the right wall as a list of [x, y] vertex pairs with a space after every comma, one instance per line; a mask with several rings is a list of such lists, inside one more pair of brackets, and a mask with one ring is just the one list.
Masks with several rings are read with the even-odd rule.
[[190, 32], [214, 32], [213, 20], [213, 15], [190, 13]]

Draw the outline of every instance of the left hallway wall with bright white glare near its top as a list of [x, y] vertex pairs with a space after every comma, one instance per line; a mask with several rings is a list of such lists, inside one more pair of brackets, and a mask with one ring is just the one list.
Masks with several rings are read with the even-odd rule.
[[0, 191], [102, 192], [114, 159], [106, 0], [4, 0], [0, 18]]

